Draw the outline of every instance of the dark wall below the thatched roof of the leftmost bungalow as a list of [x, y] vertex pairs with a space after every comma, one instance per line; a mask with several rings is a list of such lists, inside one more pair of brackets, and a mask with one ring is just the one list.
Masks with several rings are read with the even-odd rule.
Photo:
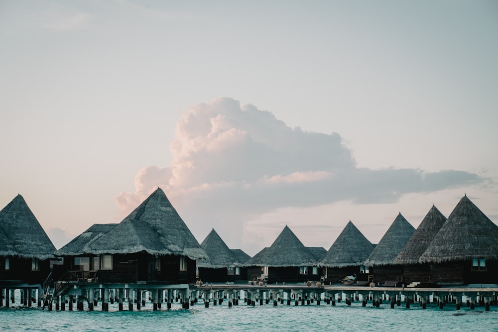
[[[5, 269], [6, 258], [8, 258], [8, 269]], [[50, 273], [50, 260], [34, 259], [37, 260], [35, 265], [33, 265], [33, 258], [0, 257], [0, 280], [20, 281], [28, 284], [43, 283]]]

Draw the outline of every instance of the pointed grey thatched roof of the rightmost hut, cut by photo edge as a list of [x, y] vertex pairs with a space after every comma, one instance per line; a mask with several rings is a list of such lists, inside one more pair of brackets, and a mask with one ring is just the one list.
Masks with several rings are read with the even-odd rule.
[[444, 263], [473, 258], [498, 259], [498, 226], [464, 196], [419, 262]]

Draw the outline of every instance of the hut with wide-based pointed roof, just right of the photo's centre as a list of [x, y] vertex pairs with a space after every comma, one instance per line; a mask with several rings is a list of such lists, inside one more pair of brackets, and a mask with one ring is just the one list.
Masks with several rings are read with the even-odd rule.
[[[323, 248], [322, 248], [323, 249]], [[285, 225], [271, 246], [264, 248], [254, 257], [249, 259], [246, 266], [253, 271], [259, 268], [262, 272], [260, 278], [267, 278], [269, 284], [275, 282], [306, 282], [319, 280], [321, 272], [318, 271], [318, 260], [310, 250], [297, 238]], [[325, 249], [322, 251], [325, 252]], [[316, 274], [313, 274], [316, 273]]]

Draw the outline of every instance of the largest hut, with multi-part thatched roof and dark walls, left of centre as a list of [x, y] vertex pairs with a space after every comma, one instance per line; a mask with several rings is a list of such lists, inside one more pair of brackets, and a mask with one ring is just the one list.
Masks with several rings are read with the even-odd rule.
[[160, 188], [119, 224], [100, 230], [83, 246], [85, 233], [55, 252], [74, 270], [97, 270], [100, 283], [193, 283], [196, 261], [207, 258]]

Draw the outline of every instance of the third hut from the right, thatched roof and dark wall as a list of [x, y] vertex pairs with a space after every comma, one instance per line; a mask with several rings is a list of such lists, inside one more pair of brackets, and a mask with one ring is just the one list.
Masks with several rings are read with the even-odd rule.
[[403, 270], [400, 265], [394, 265], [394, 259], [414, 231], [415, 228], [399, 213], [364, 263], [369, 267], [373, 282], [401, 283]]

